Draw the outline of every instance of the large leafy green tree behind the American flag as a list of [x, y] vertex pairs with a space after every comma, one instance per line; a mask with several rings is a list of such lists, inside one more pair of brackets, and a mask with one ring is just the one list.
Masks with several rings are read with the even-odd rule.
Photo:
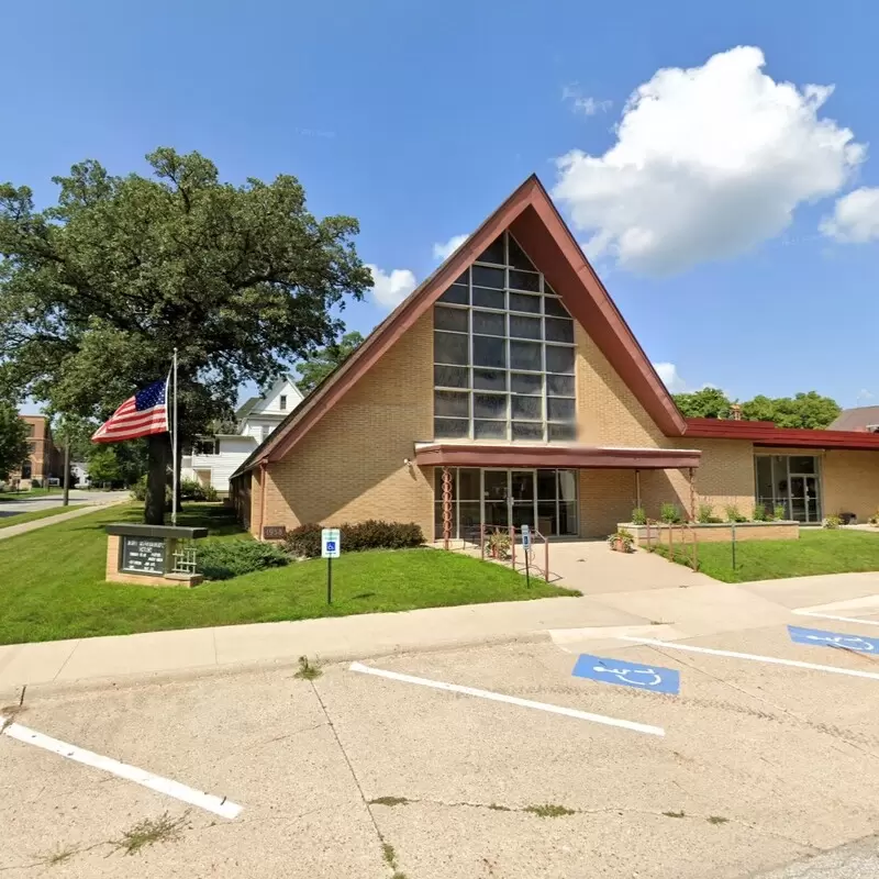
[[[159, 148], [148, 177], [94, 160], [54, 178], [58, 203], [0, 186], [0, 394], [103, 421], [179, 349], [180, 447], [229, 418], [237, 389], [332, 345], [371, 276], [349, 216], [316, 220], [289, 175], [221, 182]], [[164, 520], [168, 437], [148, 441], [145, 519]], [[179, 466], [179, 463], [178, 465]]]

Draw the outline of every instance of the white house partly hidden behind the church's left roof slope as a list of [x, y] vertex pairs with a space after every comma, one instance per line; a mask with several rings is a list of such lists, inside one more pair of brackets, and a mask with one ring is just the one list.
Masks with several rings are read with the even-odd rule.
[[283, 376], [266, 393], [245, 400], [235, 412], [237, 432], [199, 437], [190, 454], [183, 455], [181, 478], [229, 491], [229, 477], [302, 399], [293, 380]]

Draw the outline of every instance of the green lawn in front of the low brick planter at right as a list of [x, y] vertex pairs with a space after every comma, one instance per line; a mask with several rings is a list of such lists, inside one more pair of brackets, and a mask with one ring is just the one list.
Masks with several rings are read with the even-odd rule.
[[[668, 557], [666, 547], [658, 552]], [[691, 564], [689, 547], [675, 556]], [[799, 541], [738, 541], [735, 556], [733, 570], [732, 544], [700, 543], [699, 570], [727, 583], [879, 570], [879, 532], [802, 528]]]

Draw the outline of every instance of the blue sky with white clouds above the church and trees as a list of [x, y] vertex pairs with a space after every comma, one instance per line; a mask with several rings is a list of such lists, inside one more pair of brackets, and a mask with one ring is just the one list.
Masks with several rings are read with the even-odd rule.
[[[0, 179], [41, 203], [74, 162], [143, 169], [159, 145], [198, 149], [233, 181], [294, 174], [315, 213], [360, 220], [387, 303], [536, 171], [674, 390], [879, 399], [879, 9], [866, 0], [80, 0], [0, 14]], [[386, 313], [372, 297], [345, 316], [367, 332]]]

